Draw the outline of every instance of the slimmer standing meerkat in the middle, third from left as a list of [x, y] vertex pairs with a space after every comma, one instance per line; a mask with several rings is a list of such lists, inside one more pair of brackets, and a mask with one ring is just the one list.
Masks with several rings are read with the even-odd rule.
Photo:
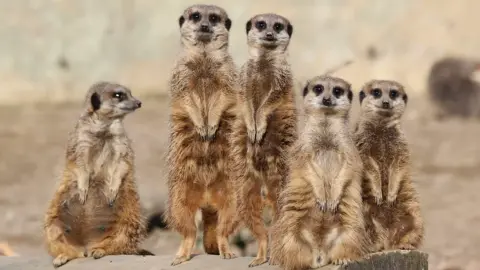
[[[250, 58], [242, 66], [232, 160], [238, 184], [239, 218], [258, 241], [250, 267], [267, 262], [264, 202], [277, 215], [277, 197], [287, 174], [286, 156], [296, 138], [293, 78], [287, 48], [293, 27], [284, 17], [260, 14], [246, 24]], [[266, 200], [262, 200], [262, 189]]]

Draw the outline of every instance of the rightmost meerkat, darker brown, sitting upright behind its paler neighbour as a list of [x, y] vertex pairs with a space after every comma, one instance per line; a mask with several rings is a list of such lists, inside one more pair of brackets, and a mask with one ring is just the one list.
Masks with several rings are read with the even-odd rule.
[[364, 164], [364, 213], [374, 251], [417, 249], [424, 227], [410, 176], [410, 150], [400, 127], [407, 93], [399, 82], [371, 80], [359, 100], [354, 140]]

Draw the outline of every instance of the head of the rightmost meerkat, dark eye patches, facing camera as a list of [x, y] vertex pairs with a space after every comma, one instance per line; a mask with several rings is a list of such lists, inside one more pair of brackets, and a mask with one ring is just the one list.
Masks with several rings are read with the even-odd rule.
[[389, 80], [371, 80], [359, 94], [361, 109], [383, 117], [400, 117], [407, 106], [408, 96], [402, 84]]

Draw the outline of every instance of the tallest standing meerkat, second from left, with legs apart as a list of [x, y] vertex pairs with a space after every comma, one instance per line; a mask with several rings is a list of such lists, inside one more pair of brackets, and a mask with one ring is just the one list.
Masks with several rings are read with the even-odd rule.
[[182, 53], [170, 80], [169, 197], [167, 224], [182, 242], [172, 261], [190, 260], [195, 213], [201, 209], [203, 246], [208, 254], [236, 257], [228, 237], [236, 223], [229, 175], [229, 141], [237, 71], [228, 52], [232, 21], [214, 5], [193, 5], [179, 18]]

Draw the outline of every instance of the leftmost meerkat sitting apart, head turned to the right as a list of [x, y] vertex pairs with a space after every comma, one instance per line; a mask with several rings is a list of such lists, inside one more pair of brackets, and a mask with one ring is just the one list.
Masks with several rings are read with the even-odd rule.
[[85, 256], [141, 253], [145, 220], [134, 153], [123, 127], [123, 118], [140, 106], [122, 85], [98, 82], [90, 87], [45, 218], [47, 249], [55, 256], [55, 267]]

